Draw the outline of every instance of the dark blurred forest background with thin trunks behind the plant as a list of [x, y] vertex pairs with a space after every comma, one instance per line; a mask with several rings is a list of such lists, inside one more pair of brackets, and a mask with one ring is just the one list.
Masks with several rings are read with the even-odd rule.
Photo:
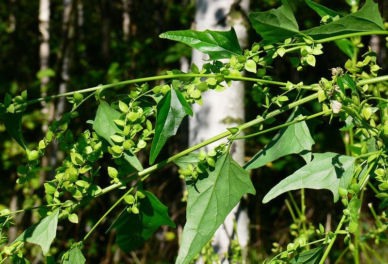
[[[301, 28], [316, 25], [319, 21], [318, 16], [307, 8], [303, 0], [290, 2]], [[316, 2], [341, 14], [348, 14], [351, 8], [345, 0]], [[360, 5], [363, 4], [361, 2]], [[384, 21], [387, 21], [388, 1], [377, 2]], [[249, 11], [267, 11], [279, 5], [278, 0], [250, 1]], [[160, 39], [158, 36], [165, 31], [195, 29], [195, 9], [195, 0], [2, 0], [0, 98], [4, 98], [5, 93], [15, 96], [23, 90], [28, 91], [29, 98], [38, 98], [99, 84], [162, 75], [170, 69], [181, 69], [184, 64], [191, 61], [191, 47]], [[252, 43], [259, 42], [259, 37], [253, 29], [247, 28], [247, 32], [249, 47]], [[364, 37], [362, 43], [364, 47], [360, 53], [367, 50], [368, 46], [372, 46], [379, 56], [377, 63], [383, 68], [381, 74], [387, 74], [387, 49], [384, 37]], [[275, 61], [274, 68], [269, 71], [276, 80], [298, 83], [303, 79], [306, 84], [315, 83], [322, 73], [330, 76], [328, 69], [341, 66], [348, 59], [334, 44], [326, 45], [324, 49], [324, 56], [317, 56], [314, 68], [306, 67], [303, 71], [296, 72], [291, 62], [282, 60]], [[129, 90], [130, 87], [124, 89]], [[111, 95], [114, 93], [116, 93], [114, 90], [108, 92]], [[255, 118], [261, 108], [255, 101], [255, 94], [246, 89], [245, 94], [241, 96], [245, 119]], [[311, 105], [311, 108], [318, 111], [319, 105]], [[64, 100], [29, 107], [22, 123], [26, 141], [39, 142], [48, 124], [54, 118], [58, 119], [68, 109], [71, 109], [71, 105]], [[70, 124], [72, 130], [83, 131], [86, 121], [94, 118], [96, 109], [97, 103], [93, 103], [93, 100], [85, 102], [80, 109], [81, 115]], [[325, 129], [325, 134], [320, 132], [322, 128], [317, 126], [314, 151], [344, 153], [342, 138], [338, 131], [341, 126], [337, 121], [333, 121], [329, 130]], [[166, 148], [161, 153], [162, 158], [186, 149], [188, 129], [188, 121], [185, 120], [177, 136], [167, 142]], [[266, 134], [263, 137], [246, 140], [245, 160], [249, 160], [273, 136], [274, 134]], [[60, 148], [54, 147], [50, 153], [50, 158], [45, 161], [48, 168], [60, 164], [63, 158]], [[2, 124], [0, 124], [0, 154], [0, 210], [9, 208], [16, 211], [42, 204], [44, 192], [41, 186], [44, 179], [52, 177], [52, 173], [48, 169], [44, 178], [36, 180], [28, 187], [16, 185], [16, 167], [25, 163], [25, 156], [18, 144], [9, 138]], [[148, 157], [140, 152], [139, 159], [146, 164]], [[106, 162], [109, 162], [108, 158]], [[284, 203], [287, 194], [283, 195], [283, 199], [279, 198], [267, 204], [262, 204], [261, 200], [272, 186], [302, 165], [303, 160], [300, 157], [288, 155], [274, 164], [267, 164], [253, 171], [254, 175], [251, 176], [257, 196], [243, 201], [250, 219], [248, 263], [263, 261], [271, 253], [273, 242], [285, 246], [291, 241], [290, 214]], [[178, 178], [176, 166], [166, 166], [157, 173], [158, 175], [146, 180], [145, 186], [169, 208], [169, 214], [177, 228], [163, 227], [143, 247], [125, 254], [114, 244], [114, 232], [105, 234], [114, 219], [110, 217], [98, 226], [83, 249], [87, 263], [174, 262], [178, 252], [179, 234], [185, 223], [186, 202], [182, 201], [183, 184]], [[101, 172], [99, 181], [100, 185], [109, 184], [110, 179], [106, 172]], [[306, 191], [309, 219], [317, 223], [326, 223], [329, 221], [328, 217], [341, 214], [341, 205], [333, 203], [327, 190], [315, 192], [318, 192], [318, 195], [317, 193], [310, 195], [308, 189]], [[88, 204], [79, 211], [77, 225], [59, 223], [59, 229], [62, 231], [54, 240], [51, 250], [64, 250], [71, 243], [69, 237], [76, 241], [80, 239], [98, 220], [101, 212], [105, 212], [118, 197], [120, 195], [113, 192]], [[112, 216], [117, 216], [119, 210], [113, 212]], [[372, 218], [367, 213], [362, 217], [366, 223]], [[16, 225], [9, 230], [9, 240], [14, 240], [38, 218], [38, 212], [18, 214], [14, 218]], [[29, 254], [32, 258], [29, 259], [34, 263], [44, 261], [40, 259], [40, 249], [36, 246], [30, 247]], [[388, 258], [387, 252], [385, 256]]]

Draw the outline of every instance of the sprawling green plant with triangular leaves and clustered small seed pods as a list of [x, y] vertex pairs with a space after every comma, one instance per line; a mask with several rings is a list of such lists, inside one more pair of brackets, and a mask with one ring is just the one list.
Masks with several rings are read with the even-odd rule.
[[[284, 192], [301, 189], [300, 208], [292, 195], [292, 205], [286, 202], [293, 218], [291, 234], [295, 236], [295, 241], [286, 250], [276, 245], [274, 251], [278, 254], [264, 263], [323, 264], [339, 236], [344, 236], [344, 243], [348, 245], [343, 254], [350, 250], [355, 263], [359, 263], [359, 250], [381, 258], [367, 244], [367, 239], [372, 238], [376, 244], [387, 243], [386, 213], [377, 216], [370, 206], [377, 228], [361, 233], [358, 227], [359, 210], [367, 188], [381, 199], [381, 208], [385, 209], [388, 203], [388, 100], [381, 95], [387, 92], [388, 76], [377, 76], [381, 68], [376, 64], [377, 54], [374, 51], [369, 50], [362, 55], [361, 61], [358, 61], [358, 52], [360, 36], [387, 35], [388, 31], [384, 30], [378, 6], [372, 0], [367, 0], [358, 11], [357, 6], [352, 6], [354, 13], [348, 16], [341, 16], [306, 0], [307, 5], [322, 16], [321, 26], [306, 31], [299, 31], [288, 2], [282, 2], [283, 5], [276, 10], [249, 15], [253, 28], [263, 40], [245, 51], [239, 46], [233, 29], [226, 32], [169, 31], [161, 35], [162, 38], [183, 42], [208, 54], [210, 62], [204, 64], [202, 69], [192, 64], [189, 73], [172, 70], [162, 76], [116, 82], [34, 100], [27, 100], [26, 91], [14, 98], [7, 94], [0, 105], [0, 118], [9, 135], [25, 149], [28, 161], [25, 166], [17, 168], [19, 177], [16, 183], [28, 186], [39, 178], [39, 172], [44, 169], [40, 158], [53, 140], [67, 156], [63, 164], [56, 168], [54, 178], [44, 183], [46, 205], [16, 212], [8, 209], [0, 212], [0, 238], [3, 244], [7, 242], [3, 231], [12, 224], [11, 219], [15, 214], [39, 209], [44, 217], [15, 241], [4, 246], [0, 263], [9, 257], [15, 261], [23, 260], [25, 242], [40, 245], [43, 253], [48, 254], [56, 236], [58, 221], [68, 219], [78, 223], [75, 214], [78, 208], [117, 188], [126, 188], [127, 192], [103, 214], [81, 241], [72, 243], [66, 252], [58, 256], [60, 263], [85, 262], [82, 245], [87, 243], [90, 234], [117, 205], [125, 208], [108, 231], [116, 229], [116, 243], [125, 252], [143, 245], [161, 225], [175, 227], [167, 208], [142, 186], [152, 172], [171, 162], [179, 166], [179, 173], [185, 177], [188, 188], [187, 222], [177, 263], [190, 263], [208, 244], [241, 197], [256, 193], [248, 170], [289, 154], [301, 155], [307, 164], [271, 189], [263, 202], [269, 202]], [[290, 60], [297, 71], [308, 65], [315, 66], [315, 56], [323, 53], [323, 44], [328, 42], [335, 42], [351, 58], [343, 67], [333, 65], [331, 78], [324, 73], [326, 78], [322, 77], [318, 84], [304, 85], [303, 82], [274, 81], [266, 75], [273, 60], [286, 54], [295, 55]], [[228, 60], [221, 62], [220, 59]], [[258, 78], [243, 77], [241, 72], [244, 69]], [[165, 83], [151, 88], [148, 82], [155, 80], [165, 80]], [[183, 118], [194, 114], [190, 103], [206, 103], [202, 101], [202, 93], [208, 90], [222, 92], [227, 89], [224, 83], [230, 85], [232, 81], [252, 82], [256, 91], [255, 100], [265, 110], [255, 120], [230, 127], [218, 136], [152, 165], [166, 140], [177, 133]], [[118, 98], [108, 98], [104, 94], [108, 89], [129, 84], [134, 85], [129, 94], [119, 95]], [[279, 93], [273, 87], [279, 87], [284, 92]], [[72, 104], [71, 111], [60, 120], [55, 120], [49, 126], [46, 137], [30, 149], [20, 129], [23, 112], [31, 104], [64, 96]], [[82, 133], [69, 130], [68, 124], [79, 114], [77, 110], [83, 102], [92, 98], [99, 102], [99, 107], [95, 119], [88, 121], [92, 125], [90, 129]], [[302, 105], [314, 100], [322, 103], [322, 111], [309, 113], [302, 108]], [[275, 116], [288, 110], [292, 112], [285, 124], [267, 128], [268, 124], [273, 124]], [[153, 116], [156, 116], [155, 124], [151, 122]], [[311, 153], [314, 144], [312, 136], [320, 116], [330, 116], [329, 123], [333, 118], [345, 123], [341, 131], [345, 131], [346, 155]], [[242, 131], [252, 127], [259, 131], [239, 136]], [[229, 155], [234, 140], [271, 131], [278, 131], [278, 134], [243, 167]], [[224, 138], [227, 139], [226, 143], [208, 153], [193, 153]], [[151, 140], [149, 161], [152, 166], [144, 169], [136, 153], [147, 149], [147, 142]], [[103, 155], [113, 159], [112, 166], [101, 168], [99, 159]], [[94, 178], [101, 170], [106, 170], [112, 178], [110, 186], [101, 187], [95, 183]], [[133, 181], [137, 182], [127, 187]], [[322, 224], [318, 225], [316, 232], [314, 225], [309, 223], [307, 226], [304, 188], [328, 189], [333, 193], [335, 202], [341, 199], [344, 210], [335, 232], [325, 232]], [[207, 252], [211, 257], [211, 250]], [[235, 257], [238, 258], [238, 253]], [[55, 260], [50, 256], [47, 262], [55, 263]]]

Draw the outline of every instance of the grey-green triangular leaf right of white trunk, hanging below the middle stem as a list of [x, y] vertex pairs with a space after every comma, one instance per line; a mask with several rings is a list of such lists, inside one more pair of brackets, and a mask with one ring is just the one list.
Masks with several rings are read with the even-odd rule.
[[[300, 109], [295, 109], [287, 122], [303, 116]], [[311, 126], [312, 129], [313, 126]], [[314, 143], [305, 121], [291, 124], [280, 129], [271, 142], [244, 165], [244, 169], [257, 169], [279, 157], [294, 153], [301, 155], [308, 163], [311, 160], [311, 146]]]

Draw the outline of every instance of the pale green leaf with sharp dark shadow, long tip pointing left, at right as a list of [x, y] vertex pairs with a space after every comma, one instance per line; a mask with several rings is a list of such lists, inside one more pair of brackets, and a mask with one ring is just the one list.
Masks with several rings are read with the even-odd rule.
[[288, 176], [264, 197], [269, 202], [280, 194], [300, 188], [328, 189], [338, 201], [338, 188], [347, 188], [352, 180], [356, 157], [326, 152], [313, 154], [314, 159]]

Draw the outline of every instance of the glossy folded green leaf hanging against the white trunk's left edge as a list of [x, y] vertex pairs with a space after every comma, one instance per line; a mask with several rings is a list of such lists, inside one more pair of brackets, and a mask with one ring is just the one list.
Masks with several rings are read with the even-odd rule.
[[193, 115], [193, 110], [186, 102], [182, 93], [175, 89], [171, 89], [163, 96], [156, 109], [158, 116], [156, 118], [155, 136], [152, 140], [149, 164], [154, 163], [167, 139], [177, 133], [183, 118], [186, 115]]

